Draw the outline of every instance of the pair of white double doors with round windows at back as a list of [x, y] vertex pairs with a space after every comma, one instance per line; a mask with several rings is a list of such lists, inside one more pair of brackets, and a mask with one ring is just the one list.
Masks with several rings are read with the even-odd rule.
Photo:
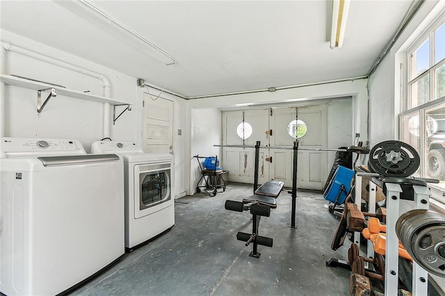
[[[298, 119], [297, 119], [298, 112]], [[259, 183], [284, 181], [292, 186], [293, 142], [298, 136], [300, 148], [327, 147], [327, 105], [223, 112], [223, 145], [288, 149], [260, 149]], [[254, 149], [223, 147], [221, 163], [229, 170], [229, 181], [253, 183]], [[322, 190], [327, 176], [327, 153], [298, 150], [298, 188]]]

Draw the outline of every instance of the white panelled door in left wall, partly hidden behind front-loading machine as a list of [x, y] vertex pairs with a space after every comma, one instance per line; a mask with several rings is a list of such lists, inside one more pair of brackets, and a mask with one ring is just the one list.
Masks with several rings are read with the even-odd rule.
[[147, 153], [173, 153], [173, 102], [144, 92], [143, 149]]

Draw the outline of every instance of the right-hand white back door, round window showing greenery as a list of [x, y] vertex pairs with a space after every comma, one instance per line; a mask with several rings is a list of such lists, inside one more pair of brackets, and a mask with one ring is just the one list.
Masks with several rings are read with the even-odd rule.
[[[298, 124], [304, 122], [304, 135], [299, 135], [297, 186], [322, 190], [327, 172], [327, 154], [323, 151], [304, 150], [305, 148], [327, 148], [327, 105], [275, 108], [270, 116], [270, 146], [288, 147], [289, 149], [270, 149], [270, 179], [284, 181], [285, 186], [292, 186], [293, 142], [292, 125], [297, 119]], [[294, 126], [295, 129], [295, 126]]]

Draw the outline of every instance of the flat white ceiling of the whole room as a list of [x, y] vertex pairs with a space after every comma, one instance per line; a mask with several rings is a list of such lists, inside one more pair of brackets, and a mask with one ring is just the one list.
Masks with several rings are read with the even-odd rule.
[[88, 0], [175, 65], [72, 2], [0, 0], [0, 28], [190, 98], [366, 76], [411, 2], [352, 0], [343, 47], [330, 49], [330, 1]]

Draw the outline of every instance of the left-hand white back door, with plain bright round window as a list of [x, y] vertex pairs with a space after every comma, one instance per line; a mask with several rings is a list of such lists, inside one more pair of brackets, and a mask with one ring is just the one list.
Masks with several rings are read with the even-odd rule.
[[[257, 141], [261, 146], [268, 145], [268, 117], [269, 109], [227, 111], [223, 113], [223, 145], [254, 146]], [[243, 125], [244, 122], [244, 125]], [[238, 126], [244, 129], [238, 129]], [[251, 126], [250, 130], [248, 126]], [[237, 133], [239, 131], [239, 133]], [[252, 133], [250, 134], [250, 131]], [[254, 181], [254, 153], [253, 148], [223, 147], [221, 164], [223, 170], [229, 170], [228, 180], [240, 183]], [[260, 149], [259, 154], [259, 183], [268, 180], [268, 151]]]

